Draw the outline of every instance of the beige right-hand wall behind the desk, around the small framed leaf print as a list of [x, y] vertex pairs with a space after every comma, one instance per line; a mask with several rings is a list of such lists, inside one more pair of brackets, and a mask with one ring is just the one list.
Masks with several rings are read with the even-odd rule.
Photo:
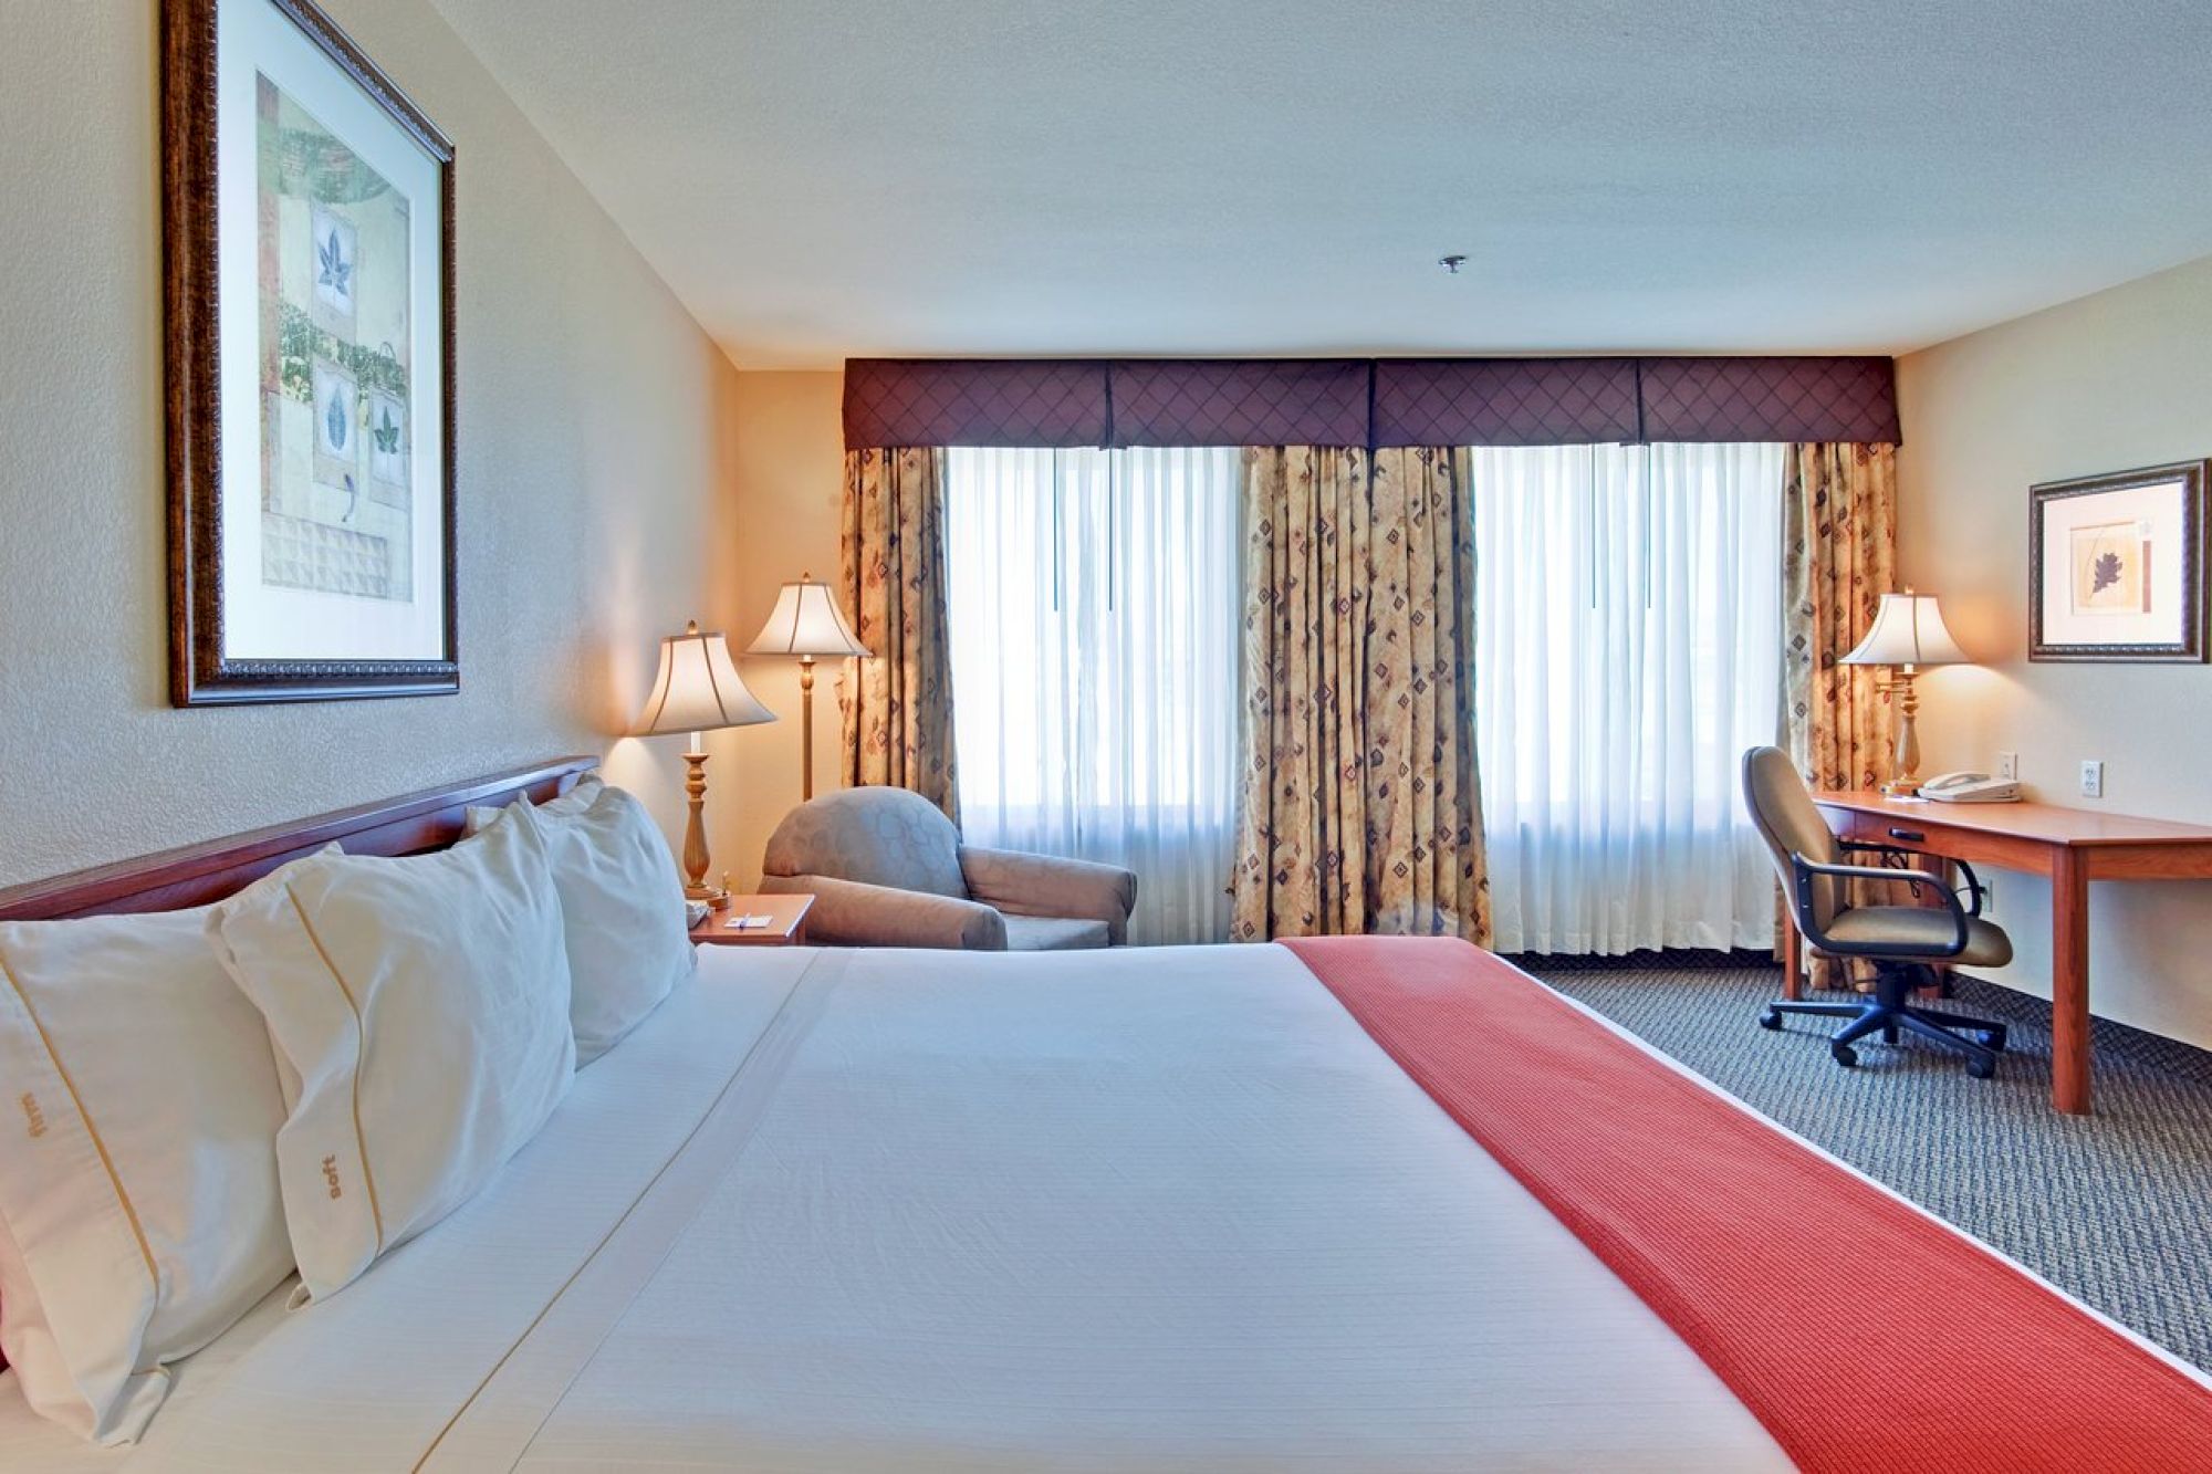
[[[2028, 485], [2212, 454], [2212, 259], [1898, 363], [1900, 553], [1978, 668], [1922, 679], [1922, 772], [2020, 752], [2033, 797], [2212, 823], [2212, 666], [2028, 664]], [[2104, 801], [2079, 797], [2086, 757]], [[2000, 980], [2048, 996], [2044, 883], [2000, 874], [2020, 945]], [[2212, 883], [2093, 885], [2093, 1009], [2212, 1047]]]

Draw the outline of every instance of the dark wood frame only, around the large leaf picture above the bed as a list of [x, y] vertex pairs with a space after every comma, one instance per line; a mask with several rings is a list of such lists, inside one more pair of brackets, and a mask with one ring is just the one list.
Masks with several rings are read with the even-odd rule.
[[161, 274], [168, 339], [170, 702], [330, 702], [460, 691], [453, 421], [453, 144], [312, 0], [292, 20], [438, 170], [438, 354], [445, 651], [438, 660], [228, 660], [217, 239], [217, 24], [239, 0], [161, 0]]

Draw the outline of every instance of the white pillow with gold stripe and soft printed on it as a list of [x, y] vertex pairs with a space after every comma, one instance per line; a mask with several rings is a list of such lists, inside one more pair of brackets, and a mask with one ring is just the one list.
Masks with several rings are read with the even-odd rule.
[[407, 859], [332, 845], [219, 903], [208, 936], [276, 1045], [276, 1175], [307, 1299], [473, 1197], [575, 1073], [533, 828]]

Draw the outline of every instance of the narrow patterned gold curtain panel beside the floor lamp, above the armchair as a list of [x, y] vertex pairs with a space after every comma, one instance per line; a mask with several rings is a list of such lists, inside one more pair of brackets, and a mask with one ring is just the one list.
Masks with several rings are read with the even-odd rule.
[[872, 660], [838, 684], [845, 783], [911, 788], [956, 823], [945, 451], [845, 451], [841, 573]]

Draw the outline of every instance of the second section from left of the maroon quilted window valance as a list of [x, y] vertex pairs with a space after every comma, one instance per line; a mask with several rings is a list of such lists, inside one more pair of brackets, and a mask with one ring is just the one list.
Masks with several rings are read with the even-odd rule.
[[1126, 359], [1113, 445], [1367, 445], [1367, 359]]

